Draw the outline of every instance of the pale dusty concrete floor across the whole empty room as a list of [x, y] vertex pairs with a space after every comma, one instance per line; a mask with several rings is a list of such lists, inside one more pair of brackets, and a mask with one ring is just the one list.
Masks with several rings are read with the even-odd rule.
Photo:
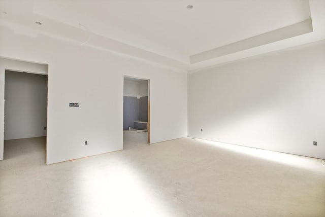
[[181, 138], [45, 165], [5, 142], [0, 216], [325, 216], [319, 159]]

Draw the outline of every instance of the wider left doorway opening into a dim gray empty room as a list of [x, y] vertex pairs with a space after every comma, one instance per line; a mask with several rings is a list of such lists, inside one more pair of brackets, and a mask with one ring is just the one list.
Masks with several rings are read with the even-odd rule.
[[5, 70], [5, 160], [45, 161], [47, 89], [47, 75]]

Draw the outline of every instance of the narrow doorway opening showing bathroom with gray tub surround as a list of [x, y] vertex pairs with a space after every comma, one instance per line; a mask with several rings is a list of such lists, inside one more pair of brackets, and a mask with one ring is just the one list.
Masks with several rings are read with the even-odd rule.
[[150, 99], [148, 79], [124, 76], [123, 149], [150, 143]]

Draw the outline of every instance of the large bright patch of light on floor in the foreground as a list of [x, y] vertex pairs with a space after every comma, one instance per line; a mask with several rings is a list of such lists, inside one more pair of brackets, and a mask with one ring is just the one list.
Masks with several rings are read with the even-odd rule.
[[166, 201], [150, 188], [153, 180], [141, 175], [123, 162], [115, 169], [85, 169], [80, 175], [85, 216], [172, 216]]

